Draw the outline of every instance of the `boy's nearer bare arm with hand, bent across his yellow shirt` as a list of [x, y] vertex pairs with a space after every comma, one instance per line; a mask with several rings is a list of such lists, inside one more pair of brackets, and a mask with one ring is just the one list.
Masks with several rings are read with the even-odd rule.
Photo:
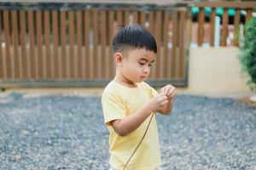
[[110, 124], [119, 136], [125, 136], [136, 130], [152, 112], [160, 110], [167, 103], [167, 97], [164, 94], [158, 94], [154, 99], [143, 105], [135, 113], [130, 116], [126, 116], [123, 119], [113, 120]]

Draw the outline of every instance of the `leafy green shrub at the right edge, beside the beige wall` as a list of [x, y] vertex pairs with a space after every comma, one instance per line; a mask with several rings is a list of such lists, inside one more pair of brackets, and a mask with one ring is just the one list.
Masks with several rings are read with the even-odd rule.
[[242, 72], [249, 77], [248, 86], [256, 92], [256, 18], [254, 17], [245, 27], [245, 37], [240, 51]]

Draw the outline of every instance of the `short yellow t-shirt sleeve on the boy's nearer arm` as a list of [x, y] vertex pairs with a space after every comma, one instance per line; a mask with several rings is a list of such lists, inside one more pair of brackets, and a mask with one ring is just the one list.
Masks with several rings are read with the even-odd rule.
[[111, 121], [122, 119], [126, 116], [125, 105], [117, 94], [102, 94], [102, 111], [104, 116], [104, 123], [107, 126], [111, 126]]

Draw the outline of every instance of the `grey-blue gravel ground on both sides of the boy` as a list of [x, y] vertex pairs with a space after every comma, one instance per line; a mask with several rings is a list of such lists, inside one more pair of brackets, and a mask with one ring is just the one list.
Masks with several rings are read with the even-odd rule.
[[[162, 169], [256, 169], [256, 107], [177, 95], [157, 116]], [[99, 96], [0, 94], [1, 170], [108, 169]]]

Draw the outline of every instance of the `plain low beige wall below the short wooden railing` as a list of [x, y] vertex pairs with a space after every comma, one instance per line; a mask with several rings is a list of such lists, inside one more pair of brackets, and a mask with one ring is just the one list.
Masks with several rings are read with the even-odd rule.
[[189, 87], [192, 94], [247, 93], [238, 48], [190, 48]]

